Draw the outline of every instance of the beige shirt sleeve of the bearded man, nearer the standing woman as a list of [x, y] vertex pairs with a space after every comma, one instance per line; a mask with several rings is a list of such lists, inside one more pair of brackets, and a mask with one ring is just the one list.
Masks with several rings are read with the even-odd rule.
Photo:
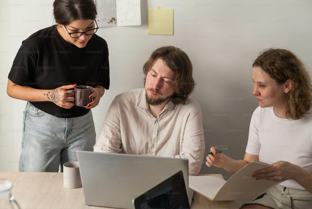
[[118, 104], [115, 99], [106, 113], [100, 136], [93, 147], [94, 152], [121, 153], [121, 132]]

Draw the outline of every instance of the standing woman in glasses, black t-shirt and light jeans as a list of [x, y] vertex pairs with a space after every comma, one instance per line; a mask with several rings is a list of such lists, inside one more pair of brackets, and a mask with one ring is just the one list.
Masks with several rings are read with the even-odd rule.
[[[26, 100], [19, 171], [58, 172], [77, 161], [76, 151], [93, 151], [91, 110], [109, 89], [106, 41], [97, 36], [92, 0], [55, 0], [56, 25], [22, 42], [8, 75], [7, 94]], [[74, 105], [71, 89], [89, 85], [93, 100]]]

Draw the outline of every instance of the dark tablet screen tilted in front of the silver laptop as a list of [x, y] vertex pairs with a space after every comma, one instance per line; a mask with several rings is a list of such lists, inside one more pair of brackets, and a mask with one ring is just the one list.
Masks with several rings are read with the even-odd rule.
[[182, 171], [135, 198], [133, 203], [135, 209], [190, 208]]

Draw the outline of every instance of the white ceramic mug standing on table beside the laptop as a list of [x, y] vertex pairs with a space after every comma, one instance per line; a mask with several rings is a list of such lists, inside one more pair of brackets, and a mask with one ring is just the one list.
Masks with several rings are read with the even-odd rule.
[[63, 164], [64, 187], [76, 189], [81, 187], [78, 162], [67, 162]]

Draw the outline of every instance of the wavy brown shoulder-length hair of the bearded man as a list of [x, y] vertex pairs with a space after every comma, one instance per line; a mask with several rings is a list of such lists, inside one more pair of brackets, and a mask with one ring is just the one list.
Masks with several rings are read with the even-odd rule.
[[193, 92], [195, 81], [193, 79], [193, 66], [188, 55], [175, 46], [163, 46], [151, 54], [149, 59], [143, 66], [143, 73], [145, 74], [144, 85], [146, 81], [146, 75], [154, 65], [157, 59], [162, 59], [164, 64], [175, 73], [171, 88], [174, 94], [169, 99], [173, 104], [183, 102]]

